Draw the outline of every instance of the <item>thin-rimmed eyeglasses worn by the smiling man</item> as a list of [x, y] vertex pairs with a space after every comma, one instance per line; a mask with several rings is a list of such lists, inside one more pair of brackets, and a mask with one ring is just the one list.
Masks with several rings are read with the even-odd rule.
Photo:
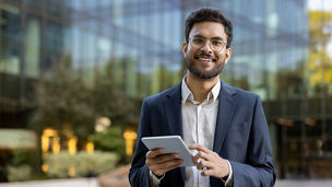
[[[206, 38], [202, 37], [202, 36], [198, 36], [194, 35], [192, 37], [189, 38], [189, 42], [191, 43], [192, 47], [194, 48], [201, 48], [205, 45], [206, 43]], [[213, 51], [222, 51], [224, 49], [224, 47], [226, 46], [226, 43], [224, 43], [224, 40], [222, 38], [215, 37], [215, 38], [211, 38], [209, 39], [209, 46]]]

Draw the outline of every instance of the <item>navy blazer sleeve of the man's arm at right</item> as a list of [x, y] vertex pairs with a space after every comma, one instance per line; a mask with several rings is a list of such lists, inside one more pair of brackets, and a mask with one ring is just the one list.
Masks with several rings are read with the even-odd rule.
[[229, 161], [233, 167], [234, 187], [273, 186], [275, 172], [269, 128], [260, 97], [257, 96], [249, 145], [245, 163]]

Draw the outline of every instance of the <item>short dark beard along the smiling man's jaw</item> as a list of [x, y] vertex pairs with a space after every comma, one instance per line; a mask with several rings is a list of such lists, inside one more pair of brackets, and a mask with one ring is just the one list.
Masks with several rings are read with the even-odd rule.
[[189, 72], [200, 79], [212, 79], [222, 73], [222, 71], [225, 67], [226, 59], [223, 58], [222, 61], [218, 61], [218, 62], [215, 61], [216, 66], [212, 70], [209, 70], [209, 71], [201, 70], [198, 66], [194, 65], [194, 60], [195, 59], [189, 59], [189, 58], [185, 57], [186, 67], [189, 70]]

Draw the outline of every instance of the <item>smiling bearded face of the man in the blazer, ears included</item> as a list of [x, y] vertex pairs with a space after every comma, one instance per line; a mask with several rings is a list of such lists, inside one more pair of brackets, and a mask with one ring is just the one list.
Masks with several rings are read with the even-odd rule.
[[232, 56], [232, 49], [226, 48], [226, 45], [221, 51], [214, 51], [211, 48], [211, 39], [214, 38], [222, 38], [227, 44], [224, 25], [217, 22], [195, 23], [189, 33], [189, 38], [193, 36], [205, 38], [206, 42], [201, 47], [193, 45], [192, 40], [182, 44], [182, 52], [189, 73], [200, 79], [215, 78], [222, 72]]

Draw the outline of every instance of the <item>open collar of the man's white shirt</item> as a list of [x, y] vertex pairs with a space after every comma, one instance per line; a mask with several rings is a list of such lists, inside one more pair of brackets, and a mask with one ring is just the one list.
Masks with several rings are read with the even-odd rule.
[[[210, 102], [212, 98], [213, 100], [212, 102], [214, 103], [220, 96], [220, 92], [221, 92], [221, 81], [217, 81], [217, 83], [212, 87], [212, 90], [208, 94], [208, 102]], [[186, 83], [186, 77], [182, 79], [181, 93], [182, 93], [182, 104], [186, 103], [189, 97], [190, 100], [193, 101], [193, 95]]]

